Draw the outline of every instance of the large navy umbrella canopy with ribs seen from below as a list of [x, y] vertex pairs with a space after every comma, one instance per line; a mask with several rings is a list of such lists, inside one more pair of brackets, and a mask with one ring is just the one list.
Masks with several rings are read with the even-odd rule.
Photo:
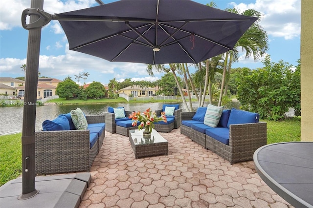
[[120, 0], [53, 19], [70, 50], [148, 64], [198, 63], [222, 54], [257, 20], [191, 0]]

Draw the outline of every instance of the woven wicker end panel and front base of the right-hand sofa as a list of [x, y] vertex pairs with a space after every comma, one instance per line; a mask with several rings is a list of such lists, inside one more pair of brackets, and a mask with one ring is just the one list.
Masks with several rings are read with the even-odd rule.
[[229, 145], [206, 135], [206, 148], [228, 160], [230, 164], [253, 159], [256, 149], [267, 144], [264, 122], [229, 126]]

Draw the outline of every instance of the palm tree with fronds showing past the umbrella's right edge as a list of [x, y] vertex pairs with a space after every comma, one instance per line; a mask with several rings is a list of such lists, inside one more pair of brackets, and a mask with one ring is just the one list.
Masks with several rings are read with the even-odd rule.
[[[239, 14], [237, 9], [226, 9], [228, 12], [232, 12], [235, 14]], [[239, 39], [236, 43], [235, 47], [242, 47], [246, 51], [246, 58], [253, 56], [254, 61], [259, 60], [262, 56], [265, 55], [268, 50], [268, 35], [264, 31], [263, 27], [260, 26], [260, 18], [262, 14], [253, 9], [247, 9], [246, 11], [241, 13], [242, 15], [252, 16], [259, 18], [257, 21], [253, 23], [253, 25], [244, 33], [244, 35]], [[230, 73], [231, 64], [233, 62], [238, 61], [238, 51], [228, 51], [224, 54], [224, 71], [223, 71], [223, 80], [221, 85], [221, 93], [218, 106], [222, 104], [222, 96], [225, 85], [225, 93], [226, 92], [226, 73]], [[227, 70], [228, 69], [228, 70]], [[226, 83], [226, 84], [225, 84]]]

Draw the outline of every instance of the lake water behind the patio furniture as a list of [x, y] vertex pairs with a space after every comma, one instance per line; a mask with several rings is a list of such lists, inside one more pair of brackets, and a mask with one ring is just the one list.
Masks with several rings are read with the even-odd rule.
[[[185, 111], [183, 104], [180, 104], [182, 111]], [[65, 114], [77, 107], [81, 108], [86, 115], [103, 115], [108, 111], [108, 106], [125, 107], [126, 110], [144, 111], [147, 108], [157, 110], [162, 108], [163, 103], [136, 103], [136, 104], [77, 104], [77, 105], [43, 105], [36, 108], [36, 131], [42, 128], [45, 120], [53, 120], [60, 114]], [[193, 103], [196, 108], [198, 104]], [[232, 102], [226, 108], [239, 108], [238, 102]], [[0, 107], [0, 135], [22, 132], [23, 107]]]

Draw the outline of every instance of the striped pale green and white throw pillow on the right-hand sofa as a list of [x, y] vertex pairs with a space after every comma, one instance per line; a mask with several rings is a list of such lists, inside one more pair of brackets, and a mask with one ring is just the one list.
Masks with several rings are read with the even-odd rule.
[[205, 125], [211, 126], [212, 128], [215, 128], [220, 122], [223, 110], [224, 106], [208, 104], [203, 123]]

